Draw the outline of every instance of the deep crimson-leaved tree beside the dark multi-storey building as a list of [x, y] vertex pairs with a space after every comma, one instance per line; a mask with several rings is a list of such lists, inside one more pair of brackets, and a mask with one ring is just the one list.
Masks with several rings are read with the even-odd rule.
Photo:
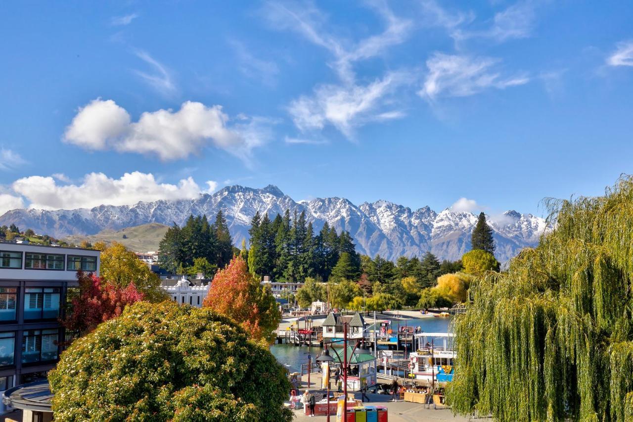
[[79, 335], [85, 335], [104, 321], [120, 316], [126, 305], [144, 298], [134, 283], [119, 287], [82, 271], [77, 271], [77, 281], [79, 291], [70, 301], [63, 324]]

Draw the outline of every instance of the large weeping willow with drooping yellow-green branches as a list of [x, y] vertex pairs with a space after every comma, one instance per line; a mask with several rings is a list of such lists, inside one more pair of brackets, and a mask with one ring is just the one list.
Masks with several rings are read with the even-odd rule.
[[633, 421], [633, 178], [548, 207], [555, 230], [473, 281], [448, 400], [499, 421]]

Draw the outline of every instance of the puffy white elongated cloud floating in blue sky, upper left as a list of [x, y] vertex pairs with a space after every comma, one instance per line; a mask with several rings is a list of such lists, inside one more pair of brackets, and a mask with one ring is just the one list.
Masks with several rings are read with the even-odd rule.
[[138, 122], [111, 99], [95, 99], [79, 109], [64, 139], [88, 150], [152, 154], [175, 160], [212, 144], [248, 160], [251, 150], [270, 137], [263, 118], [240, 119], [229, 125], [222, 106], [186, 101], [180, 110], [142, 113]]

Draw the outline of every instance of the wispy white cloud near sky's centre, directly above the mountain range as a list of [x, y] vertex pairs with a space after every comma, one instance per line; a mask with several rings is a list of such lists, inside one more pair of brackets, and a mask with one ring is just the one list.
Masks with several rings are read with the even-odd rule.
[[388, 74], [367, 86], [322, 85], [313, 96], [301, 96], [291, 102], [288, 110], [300, 131], [323, 129], [333, 125], [352, 138], [354, 127], [370, 121], [402, 117], [397, 111], [380, 112], [384, 98], [404, 83], [403, 74]]

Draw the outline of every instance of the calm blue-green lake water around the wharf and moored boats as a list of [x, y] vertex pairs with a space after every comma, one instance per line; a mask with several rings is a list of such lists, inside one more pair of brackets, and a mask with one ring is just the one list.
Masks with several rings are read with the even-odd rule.
[[[380, 321], [380, 317], [378, 318]], [[448, 324], [452, 318], [420, 318], [400, 320], [400, 326], [420, 326], [422, 331], [427, 333], [446, 333], [448, 332]], [[394, 333], [398, 329], [398, 320], [391, 321], [391, 328]], [[371, 329], [371, 328], [370, 328]], [[379, 350], [383, 347], [379, 347]], [[386, 348], [386, 347], [385, 347]], [[301, 364], [308, 363], [308, 354], [314, 358], [317, 354], [321, 354], [319, 347], [294, 346], [290, 344], [275, 344], [270, 347], [270, 352], [277, 358], [280, 364], [290, 372], [301, 371]]]

